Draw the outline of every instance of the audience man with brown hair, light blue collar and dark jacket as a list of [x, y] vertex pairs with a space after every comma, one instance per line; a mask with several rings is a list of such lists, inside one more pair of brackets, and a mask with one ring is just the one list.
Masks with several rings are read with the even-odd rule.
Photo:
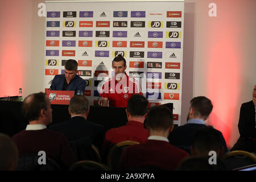
[[[190, 101], [190, 103], [191, 106], [189, 107], [187, 124], [175, 127], [175, 129], [168, 136], [171, 144], [182, 148], [183, 150], [189, 152], [189, 154], [191, 154], [191, 139], [195, 134], [195, 131], [199, 130], [201, 127], [207, 127], [205, 125], [205, 120], [209, 117], [209, 114], [213, 109], [212, 102], [204, 96], [195, 97]], [[220, 135], [224, 152], [227, 152], [228, 148], [226, 147], [225, 139], [220, 131], [217, 130], [217, 132], [218, 135]]]

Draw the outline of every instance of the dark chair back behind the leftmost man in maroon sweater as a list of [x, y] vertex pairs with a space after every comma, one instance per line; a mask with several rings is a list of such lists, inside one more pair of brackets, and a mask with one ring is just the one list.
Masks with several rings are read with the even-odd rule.
[[46, 157], [46, 164], [39, 164], [37, 154], [24, 154], [19, 156], [16, 171], [61, 171], [59, 164]]

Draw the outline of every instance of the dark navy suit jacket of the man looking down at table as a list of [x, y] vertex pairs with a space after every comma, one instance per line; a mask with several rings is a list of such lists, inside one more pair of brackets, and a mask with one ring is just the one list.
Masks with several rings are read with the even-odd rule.
[[[65, 75], [56, 75], [52, 80], [51, 90], [63, 90]], [[75, 91], [75, 95], [77, 94], [77, 90], [81, 90], [84, 92], [86, 86], [86, 82], [80, 76], [76, 75], [68, 85], [67, 90]]]

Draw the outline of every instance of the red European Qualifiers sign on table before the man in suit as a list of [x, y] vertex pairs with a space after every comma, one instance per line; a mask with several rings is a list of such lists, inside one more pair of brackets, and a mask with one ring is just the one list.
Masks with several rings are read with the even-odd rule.
[[51, 104], [69, 105], [69, 101], [74, 97], [75, 91], [67, 90], [46, 90], [46, 95]]

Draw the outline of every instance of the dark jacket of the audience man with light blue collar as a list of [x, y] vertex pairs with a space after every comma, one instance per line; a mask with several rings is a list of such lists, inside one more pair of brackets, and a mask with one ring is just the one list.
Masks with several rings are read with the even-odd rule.
[[[176, 147], [182, 148], [183, 150], [187, 151], [189, 154], [190, 146], [192, 144], [193, 135], [197, 130], [201, 127], [207, 127], [206, 125], [196, 124], [196, 123], [187, 123], [183, 126], [175, 127], [174, 130], [169, 134], [168, 139], [171, 144]], [[218, 131], [218, 130], [217, 130]], [[224, 152], [228, 152], [228, 148], [226, 147], [225, 139], [220, 131], [218, 134], [221, 138], [222, 146], [224, 147]]]

